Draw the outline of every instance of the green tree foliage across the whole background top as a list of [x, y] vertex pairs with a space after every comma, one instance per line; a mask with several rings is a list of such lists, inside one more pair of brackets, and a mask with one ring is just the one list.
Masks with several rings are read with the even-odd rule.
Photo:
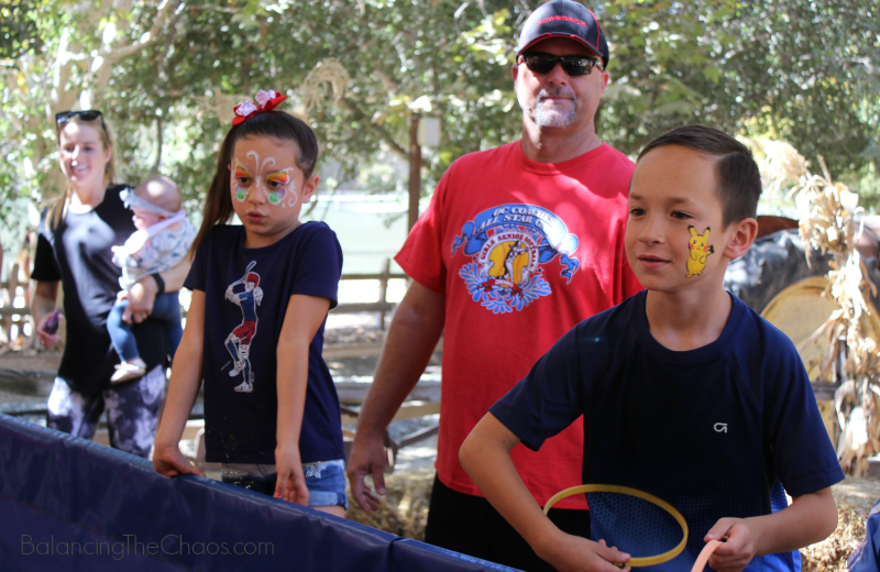
[[[406, 160], [414, 114], [441, 118], [441, 144], [425, 150], [430, 193], [457, 157], [519, 136], [510, 65], [527, 9], [537, 3], [13, 2], [0, 9], [8, 54], [0, 57], [9, 57], [0, 66], [0, 208], [7, 198], [57, 191], [52, 112], [77, 106], [87, 89], [117, 128], [118, 166], [130, 183], [158, 168], [197, 200], [232, 119], [234, 100], [218, 110], [215, 95], [252, 99], [272, 88], [289, 96], [284, 109], [308, 117], [326, 168], [332, 166], [328, 176], [349, 186], [399, 188], [362, 172], [387, 157]], [[590, 3], [612, 45], [597, 124], [614, 146], [635, 154], [671, 127], [706, 123], [787, 140], [811, 160], [821, 154], [835, 177], [871, 193], [880, 157], [880, 18], [870, 0]], [[24, 8], [38, 9], [38, 21], [8, 21], [2, 11]], [[348, 74], [344, 94], [307, 82], [330, 59]], [[320, 105], [306, 109], [309, 94]]]

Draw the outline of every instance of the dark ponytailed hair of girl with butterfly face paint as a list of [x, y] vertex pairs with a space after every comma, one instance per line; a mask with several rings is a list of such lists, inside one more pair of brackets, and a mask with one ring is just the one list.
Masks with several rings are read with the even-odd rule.
[[297, 147], [296, 166], [302, 170], [306, 179], [311, 177], [315, 165], [318, 163], [318, 138], [310, 127], [301, 119], [297, 119], [290, 113], [273, 110], [256, 113], [243, 123], [239, 123], [229, 130], [220, 154], [217, 156], [217, 172], [208, 189], [205, 199], [204, 218], [199, 233], [193, 241], [189, 255], [195, 256], [201, 241], [208, 235], [216, 224], [229, 222], [234, 212], [232, 208], [232, 197], [229, 187], [231, 173], [229, 164], [232, 161], [232, 152], [235, 143], [240, 139], [251, 138], [274, 138], [279, 141], [293, 141]]

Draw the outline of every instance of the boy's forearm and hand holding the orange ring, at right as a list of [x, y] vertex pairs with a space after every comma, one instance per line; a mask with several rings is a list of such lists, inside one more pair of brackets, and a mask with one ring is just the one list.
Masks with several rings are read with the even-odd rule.
[[831, 487], [792, 498], [791, 506], [779, 513], [751, 518], [722, 518], [706, 534], [705, 540], [727, 542], [708, 560], [713, 570], [738, 572], [752, 558], [776, 552], [791, 552], [818, 542], [837, 527], [837, 505]]

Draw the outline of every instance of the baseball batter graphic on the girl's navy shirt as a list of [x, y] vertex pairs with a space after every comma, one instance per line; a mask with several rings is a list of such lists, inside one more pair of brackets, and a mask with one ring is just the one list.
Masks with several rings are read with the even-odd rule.
[[[263, 301], [263, 289], [260, 288], [260, 275], [251, 270], [256, 262], [251, 262], [244, 276], [227, 286], [226, 298], [241, 308], [242, 321], [232, 333], [227, 337], [226, 346], [232, 356], [230, 377], [242, 375], [241, 384], [235, 386], [237, 392], [251, 393], [254, 391], [254, 372], [251, 370], [251, 342], [256, 336], [256, 307]], [[224, 366], [226, 367], [226, 366]]]

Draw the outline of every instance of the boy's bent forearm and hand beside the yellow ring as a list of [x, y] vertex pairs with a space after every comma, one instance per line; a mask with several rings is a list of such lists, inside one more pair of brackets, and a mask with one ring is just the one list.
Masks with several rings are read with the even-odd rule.
[[517, 443], [519, 438], [490, 413], [462, 443], [459, 460], [486, 499], [539, 558], [561, 571], [619, 572], [612, 562], [626, 562], [629, 554], [608, 548], [604, 541], [566, 535], [543, 514], [510, 459]]

